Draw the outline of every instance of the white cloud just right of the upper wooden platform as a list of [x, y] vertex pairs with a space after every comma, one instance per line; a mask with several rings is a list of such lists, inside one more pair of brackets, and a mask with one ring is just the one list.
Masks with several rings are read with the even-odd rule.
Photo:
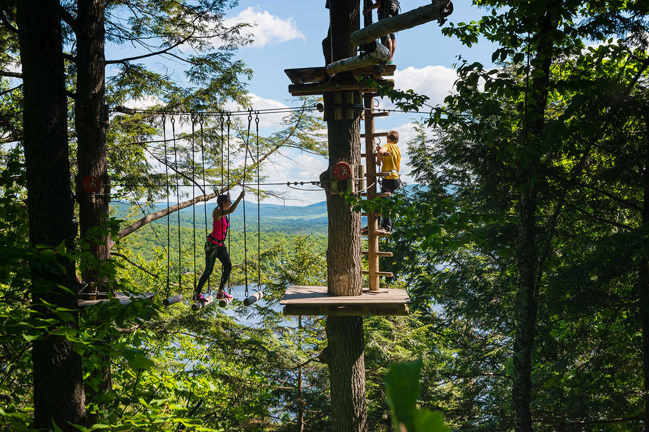
[[401, 90], [412, 89], [415, 93], [430, 97], [429, 104], [441, 104], [444, 98], [451, 93], [453, 83], [458, 78], [455, 69], [445, 66], [426, 66], [421, 69], [406, 67], [395, 71], [395, 88]]

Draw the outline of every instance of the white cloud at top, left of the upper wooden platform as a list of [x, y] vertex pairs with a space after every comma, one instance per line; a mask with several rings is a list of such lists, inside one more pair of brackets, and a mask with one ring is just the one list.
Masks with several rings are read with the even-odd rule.
[[292, 17], [287, 19], [278, 18], [269, 14], [267, 10], [261, 12], [255, 10], [252, 6], [242, 10], [233, 18], [225, 19], [225, 25], [228, 27], [238, 23], [252, 23], [254, 25], [252, 29], [254, 42], [249, 45], [254, 48], [262, 48], [268, 44], [275, 45], [293, 39], [306, 40], [306, 36], [297, 29], [295, 19]]

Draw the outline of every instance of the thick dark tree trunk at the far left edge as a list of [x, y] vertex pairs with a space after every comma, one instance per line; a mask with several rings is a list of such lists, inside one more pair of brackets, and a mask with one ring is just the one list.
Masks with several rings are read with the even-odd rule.
[[[29, 239], [32, 244], [73, 245], [76, 224], [70, 189], [67, 149], [67, 95], [64, 77], [61, 15], [58, 1], [18, 2], [20, 56], [23, 65], [23, 127]], [[48, 316], [40, 300], [77, 308], [77, 296], [58, 288], [73, 287], [75, 264], [58, 258], [64, 272], [32, 267], [32, 301], [38, 315]], [[76, 318], [76, 317], [75, 317]], [[76, 327], [78, 320], [64, 325]], [[67, 422], [85, 416], [81, 358], [66, 337], [45, 335], [34, 341], [34, 427], [76, 431]]]

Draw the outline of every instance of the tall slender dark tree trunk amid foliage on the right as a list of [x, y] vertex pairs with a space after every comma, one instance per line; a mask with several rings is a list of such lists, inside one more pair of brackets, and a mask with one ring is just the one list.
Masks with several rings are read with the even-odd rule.
[[[550, 8], [541, 18], [539, 39], [535, 56], [531, 62], [533, 69], [543, 71], [543, 76], [532, 80], [528, 97], [524, 132], [522, 135], [522, 154], [519, 158], [520, 176], [517, 186], [519, 198], [519, 238], [517, 248], [518, 291], [515, 304], [516, 334], [513, 353], [512, 400], [514, 408], [514, 427], [517, 432], [532, 432], [532, 348], [538, 311], [537, 271], [539, 254], [537, 251], [537, 184], [541, 169], [539, 154], [543, 145], [545, 108], [548, 101], [548, 77], [552, 63], [553, 43], [552, 24], [556, 8]], [[530, 75], [532, 75], [530, 73]], [[527, 104], [528, 101], [534, 101]], [[531, 108], [530, 108], [531, 107]]]

